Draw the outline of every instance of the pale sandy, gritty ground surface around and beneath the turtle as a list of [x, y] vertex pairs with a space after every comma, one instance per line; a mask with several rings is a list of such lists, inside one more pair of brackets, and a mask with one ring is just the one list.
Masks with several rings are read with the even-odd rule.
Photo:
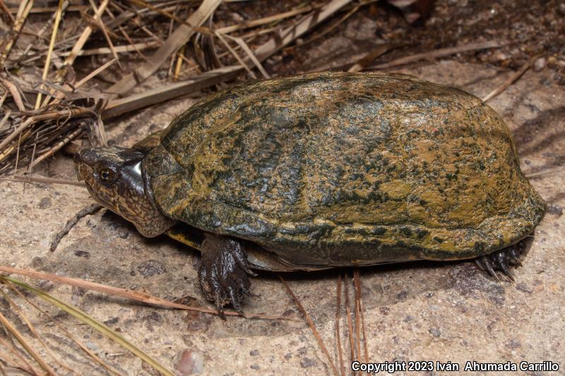
[[[511, 75], [487, 66], [455, 61], [423, 63], [403, 73], [436, 83], [486, 95]], [[552, 83], [549, 73], [533, 70], [490, 102], [512, 129], [525, 174], [555, 169], [565, 164], [565, 87]], [[175, 114], [193, 103], [181, 99], [109, 124], [110, 138], [119, 145], [132, 145], [149, 131], [167, 126]], [[58, 156], [37, 174], [73, 178], [69, 157]], [[516, 269], [516, 282], [496, 282], [473, 262], [448, 264], [415, 263], [362, 269], [362, 298], [368, 336], [369, 360], [432, 360], [459, 363], [552, 360], [565, 375], [565, 178], [562, 172], [532, 178], [549, 210], [535, 230], [535, 242]], [[55, 253], [48, 250], [53, 234], [69, 217], [91, 200], [83, 188], [0, 182], [0, 262], [78, 277], [126, 289], [147, 291], [174, 299], [190, 296], [191, 304], [203, 300], [194, 251], [165, 237], [142, 238], [131, 224], [109, 212], [83, 219], [64, 238]], [[472, 215], [472, 213], [470, 213]], [[289, 274], [287, 280], [310, 313], [322, 338], [335, 351], [334, 271]], [[167, 368], [186, 362], [179, 374], [208, 375], [324, 375], [331, 372], [326, 358], [302, 315], [273, 274], [252, 280], [258, 295], [246, 301], [248, 313], [284, 315], [298, 321], [226, 321], [210, 315], [144, 306], [102, 293], [32, 281], [62, 300], [77, 305], [112, 329], [119, 330]], [[352, 291], [352, 286], [350, 286]], [[141, 360], [79, 324], [68, 315], [34, 301], [64, 322], [98, 356], [128, 375], [155, 374]], [[82, 375], [105, 374], [48, 320], [29, 305], [24, 310], [47, 344], [67, 365]], [[20, 318], [0, 300], [0, 310], [29, 336]], [[345, 310], [342, 317], [345, 317]], [[345, 327], [345, 321], [340, 321]], [[342, 332], [342, 339], [347, 332]], [[37, 344], [32, 341], [32, 343]], [[343, 341], [346, 360], [349, 346]], [[56, 365], [54, 365], [56, 367]], [[61, 370], [61, 373], [66, 373]], [[398, 374], [402, 374], [400, 372]], [[404, 372], [405, 373], [405, 372]], [[415, 372], [412, 374], [423, 373]], [[442, 372], [427, 372], [441, 374]], [[482, 372], [468, 372], [481, 374]], [[552, 372], [520, 372], [549, 375]], [[492, 375], [494, 373], [489, 373]]]

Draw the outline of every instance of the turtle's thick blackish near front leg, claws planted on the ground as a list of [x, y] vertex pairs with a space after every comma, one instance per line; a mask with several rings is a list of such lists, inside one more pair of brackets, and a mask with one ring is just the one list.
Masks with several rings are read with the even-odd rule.
[[202, 264], [198, 269], [198, 280], [202, 291], [218, 310], [232, 303], [243, 316], [241, 301], [249, 292], [249, 277], [256, 276], [249, 269], [247, 255], [237, 239], [206, 233], [201, 247]]

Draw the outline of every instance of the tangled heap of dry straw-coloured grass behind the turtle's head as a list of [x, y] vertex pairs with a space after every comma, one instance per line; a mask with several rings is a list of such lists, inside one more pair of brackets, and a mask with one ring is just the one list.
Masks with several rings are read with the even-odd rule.
[[[218, 27], [203, 25], [222, 0], [206, 0], [199, 6], [198, 1], [180, 0], [152, 4], [88, 0], [81, 6], [69, 6], [68, 1], [60, 0], [56, 8], [38, 8], [32, 1], [23, 1], [15, 15], [3, 2], [13, 24], [10, 39], [0, 47], [4, 68], [0, 73], [0, 176], [30, 174], [33, 166], [83, 135], [93, 145], [105, 145], [102, 119], [202, 90], [242, 73], [253, 78], [255, 69], [267, 78], [262, 61], [350, 2], [299, 6], [236, 24], [223, 21]], [[42, 13], [52, 13], [52, 18], [34, 33], [29, 18]], [[28, 24], [30, 30], [26, 30]], [[49, 41], [44, 38], [48, 30]], [[37, 38], [19, 45], [22, 33], [28, 41], [29, 35]], [[204, 45], [210, 39], [218, 42]], [[148, 54], [151, 49], [154, 52]], [[215, 65], [201, 59], [198, 51], [214, 56]], [[85, 72], [81, 56], [106, 61]], [[131, 73], [126, 73], [126, 62]], [[138, 83], [154, 78], [167, 65], [170, 74], [160, 80], [162, 85], [133, 94]], [[40, 76], [36, 67], [42, 71]], [[109, 87], [95, 80], [112, 75], [122, 78]], [[170, 85], [171, 81], [178, 85]]]

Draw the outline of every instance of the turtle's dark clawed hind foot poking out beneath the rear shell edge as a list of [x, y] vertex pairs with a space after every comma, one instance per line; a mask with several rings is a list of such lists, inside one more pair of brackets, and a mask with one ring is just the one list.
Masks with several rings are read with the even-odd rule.
[[514, 281], [512, 268], [522, 265], [520, 257], [527, 252], [529, 245], [531, 245], [531, 239], [526, 238], [509, 247], [497, 250], [489, 255], [476, 258], [475, 262], [480, 269], [487, 272], [497, 281], [499, 280], [499, 277], [498, 274], [496, 274], [496, 271], [502, 272], [502, 274], [509, 277], [511, 281]]

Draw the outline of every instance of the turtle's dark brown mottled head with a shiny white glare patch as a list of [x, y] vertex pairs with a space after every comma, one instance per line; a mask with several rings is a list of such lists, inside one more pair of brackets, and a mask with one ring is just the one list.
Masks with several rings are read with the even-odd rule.
[[76, 174], [100, 205], [152, 238], [167, 231], [174, 220], [157, 208], [144, 176], [143, 159], [143, 152], [124, 147], [83, 149], [75, 154]]

